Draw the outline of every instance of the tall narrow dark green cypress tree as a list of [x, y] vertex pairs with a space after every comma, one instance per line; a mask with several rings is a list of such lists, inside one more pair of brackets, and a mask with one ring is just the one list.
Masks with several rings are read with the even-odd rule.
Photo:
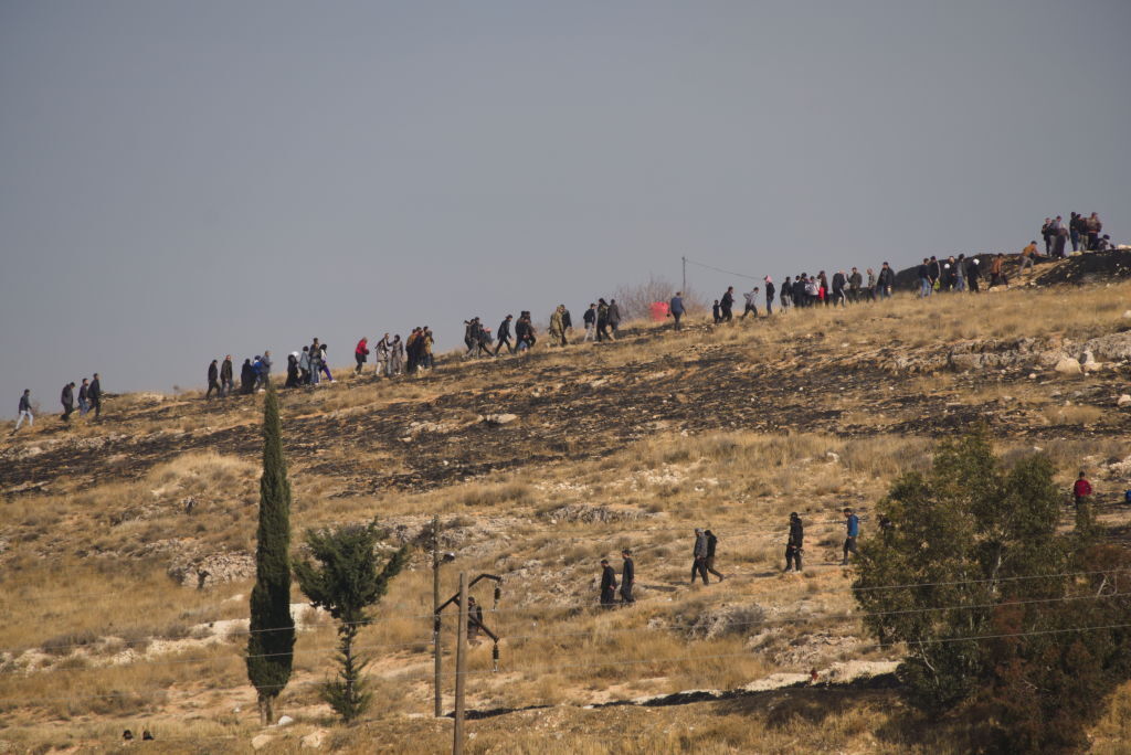
[[259, 718], [275, 719], [274, 704], [291, 679], [291, 484], [283, 457], [278, 396], [268, 384], [264, 401], [264, 474], [259, 478], [256, 585], [251, 589], [248, 679], [259, 698]]

